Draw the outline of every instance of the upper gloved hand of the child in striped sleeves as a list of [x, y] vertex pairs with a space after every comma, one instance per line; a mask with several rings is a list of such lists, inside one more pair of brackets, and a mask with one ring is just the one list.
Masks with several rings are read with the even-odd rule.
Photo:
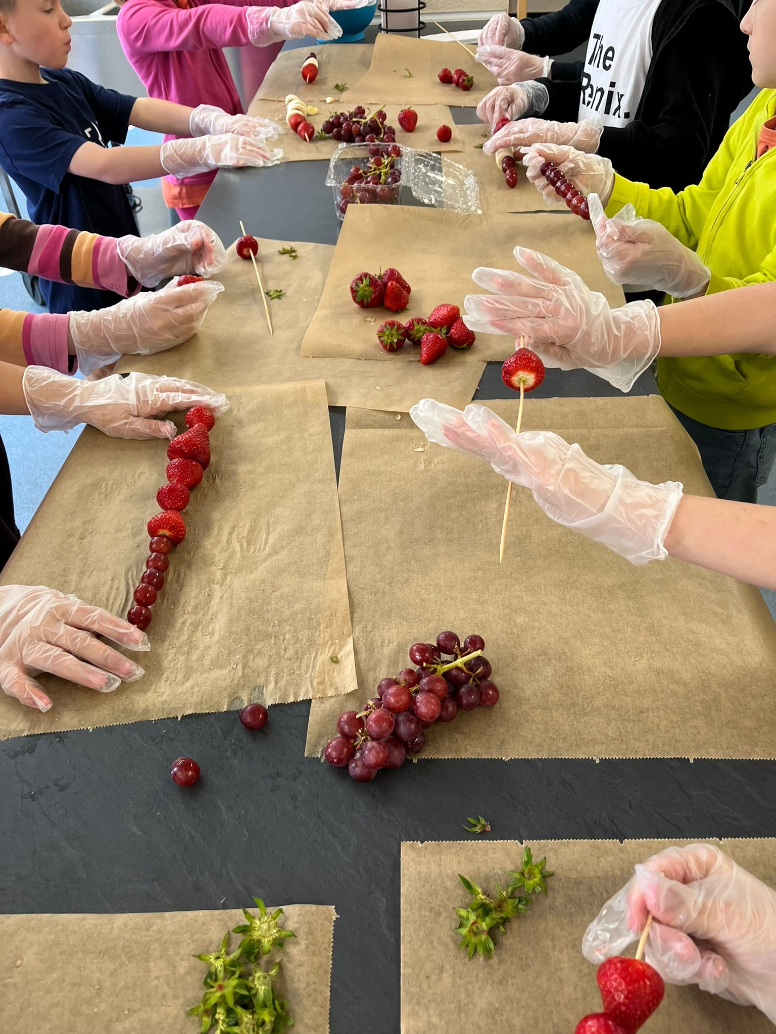
[[166, 277], [181, 273], [217, 276], [227, 265], [218, 235], [197, 219], [185, 219], [149, 237], [119, 237], [116, 250], [144, 287], [155, 287]]

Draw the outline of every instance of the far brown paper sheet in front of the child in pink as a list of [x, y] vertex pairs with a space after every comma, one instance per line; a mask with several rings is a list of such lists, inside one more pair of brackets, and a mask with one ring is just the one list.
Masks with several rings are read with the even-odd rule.
[[[314, 45], [311, 50], [318, 58], [318, 75], [315, 83], [305, 83], [302, 79], [302, 65], [310, 52], [301, 47], [294, 48], [281, 51], [277, 55], [264, 77], [256, 97], [285, 100], [288, 94], [295, 93], [300, 100], [305, 100], [308, 104], [316, 104], [326, 97], [333, 97], [337, 107], [340, 97], [347, 101], [353, 86], [369, 67], [371, 47], [368, 43], [347, 43], [340, 47], [320, 44]], [[347, 84], [349, 89], [344, 92], [335, 90], [335, 83], [339, 83], [340, 86]], [[446, 102], [441, 101], [441, 103]], [[286, 124], [285, 119], [283, 114], [282, 125]]]

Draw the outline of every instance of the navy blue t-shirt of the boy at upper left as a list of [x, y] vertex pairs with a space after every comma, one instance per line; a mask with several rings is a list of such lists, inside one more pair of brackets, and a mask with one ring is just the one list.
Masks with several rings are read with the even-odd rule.
[[[0, 79], [0, 165], [24, 190], [30, 219], [106, 237], [137, 234], [123, 186], [67, 172], [85, 143], [123, 144], [136, 98], [67, 68], [41, 68], [40, 74], [44, 85]], [[40, 290], [51, 312], [121, 301], [113, 292], [73, 283], [41, 280]]]

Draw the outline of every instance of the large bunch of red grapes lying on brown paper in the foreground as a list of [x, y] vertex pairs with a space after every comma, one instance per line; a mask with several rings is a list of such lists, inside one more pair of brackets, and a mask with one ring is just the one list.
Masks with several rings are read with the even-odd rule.
[[381, 768], [399, 768], [408, 754], [420, 754], [425, 730], [436, 722], [452, 722], [459, 710], [493, 707], [499, 689], [490, 681], [484, 648], [482, 636], [467, 636], [461, 646], [454, 632], [440, 632], [436, 645], [415, 643], [410, 660], [416, 667], [382, 678], [360, 713], [339, 716], [326, 760], [335, 768], [347, 765], [357, 783], [370, 783]]

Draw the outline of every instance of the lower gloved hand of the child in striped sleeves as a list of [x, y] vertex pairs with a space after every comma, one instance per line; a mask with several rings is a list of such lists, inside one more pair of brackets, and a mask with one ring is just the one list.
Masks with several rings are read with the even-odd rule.
[[92, 312], [70, 312], [69, 332], [86, 376], [123, 355], [151, 356], [187, 341], [223, 291], [217, 280], [143, 292]]

